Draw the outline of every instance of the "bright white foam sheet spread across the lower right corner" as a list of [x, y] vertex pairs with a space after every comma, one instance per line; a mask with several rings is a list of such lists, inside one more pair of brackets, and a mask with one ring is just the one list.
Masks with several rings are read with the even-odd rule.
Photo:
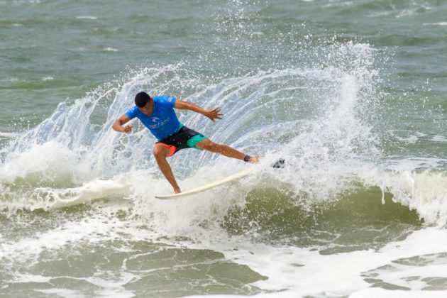
[[[358, 295], [372, 293], [366, 290], [370, 284], [365, 282], [365, 274], [387, 265], [395, 266], [391, 274], [386, 270], [377, 270], [377, 275], [373, 278], [395, 286], [415, 289], [416, 293], [420, 294], [420, 285], [415, 286], [409, 277], [419, 276], [419, 282], [423, 284], [425, 282], [421, 280], [424, 277], [445, 277], [447, 262], [433, 266], [399, 266], [394, 261], [418, 255], [446, 253], [446, 243], [447, 231], [425, 228], [412, 233], [404, 241], [388, 243], [377, 251], [359, 250], [334, 255], [320, 255], [318, 250], [311, 251], [309, 248], [271, 247], [259, 243], [211, 243], [206, 246], [221, 251], [226, 258], [248, 265], [252, 270], [267, 276], [267, 280], [255, 282], [256, 286], [265, 290], [287, 289], [297, 296], [331, 297], [353, 294], [353, 297], [361, 297]], [[390, 294], [386, 289], [375, 289], [374, 292], [379, 293], [375, 297], [381, 297], [381, 293]], [[275, 294], [272, 296], [275, 297]], [[436, 292], [434, 297], [440, 297], [439, 294], [441, 292]]]

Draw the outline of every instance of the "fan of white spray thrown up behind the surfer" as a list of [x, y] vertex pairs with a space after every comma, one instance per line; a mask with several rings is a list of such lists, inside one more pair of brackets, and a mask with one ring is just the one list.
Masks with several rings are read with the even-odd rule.
[[[305, 192], [314, 199], [335, 199], [349, 187], [353, 179], [350, 169], [374, 160], [377, 155], [376, 139], [370, 132], [372, 124], [363, 117], [363, 109], [372, 109], [371, 103], [377, 101], [377, 72], [371, 62], [374, 51], [369, 45], [346, 43], [319, 48], [325, 49], [328, 60], [321, 68], [259, 71], [208, 86], [201, 84], [200, 77], [191, 74], [184, 62], [130, 71], [116, 82], [89, 92], [85, 98], [61, 103], [50, 118], [13, 140], [2, 150], [4, 168], [21, 166], [16, 167], [16, 174], [5, 172], [4, 177], [14, 182], [28, 172], [27, 163], [18, 160], [36, 152], [31, 158], [41, 160], [43, 167], [54, 168], [53, 176], [57, 179], [65, 177], [58, 172], [63, 167], [57, 165], [76, 165], [80, 171], [63, 178], [67, 184], [53, 187], [79, 187], [95, 177], [114, 179], [121, 173], [143, 170], [143, 180], [149, 181], [145, 197], [153, 197], [156, 188], [150, 184], [166, 184], [158, 180], [160, 173], [151, 156], [153, 138], [138, 121], [131, 134], [116, 133], [111, 124], [131, 106], [133, 94], [140, 89], [153, 95], [165, 94], [189, 88], [196, 82], [202, 89], [182, 99], [205, 109], [220, 106], [225, 118], [214, 125], [198, 114], [180, 112], [181, 121], [192, 128], [202, 128], [211, 140], [266, 156], [266, 162], [271, 161], [272, 154], [282, 155], [288, 160], [289, 170], [276, 174], [275, 180], [297, 187], [294, 192]], [[343, 57], [352, 63], [336, 67]], [[42, 146], [49, 146], [53, 156], [60, 158], [41, 159], [42, 153], [33, 148]], [[228, 162], [234, 164], [219, 155], [195, 150], [182, 151], [171, 160], [180, 180], [194, 177], [197, 167], [221, 168]], [[163, 189], [169, 191], [169, 187]], [[32, 194], [33, 187], [29, 191]], [[223, 211], [220, 216], [224, 214]]]

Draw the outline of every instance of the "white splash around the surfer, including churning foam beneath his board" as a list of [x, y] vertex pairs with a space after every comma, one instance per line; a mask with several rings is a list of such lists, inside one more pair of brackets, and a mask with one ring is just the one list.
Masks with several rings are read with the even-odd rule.
[[[231, 204], [244, 204], [245, 194], [269, 183], [305, 194], [304, 204], [338, 199], [353, 191], [359, 180], [393, 192], [396, 187], [377, 179], [387, 169], [381, 165], [376, 118], [370, 116], [380, 109], [382, 99], [376, 92], [381, 82], [376, 51], [367, 44], [333, 42], [321, 45], [318, 52], [320, 58], [312, 66], [260, 70], [214, 83], [192, 72], [189, 62], [128, 70], [81, 99], [64, 101], [43, 123], [1, 148], [1, 206], [48, 209], [131, 195], [137, 206], [150, 208], [150, 216], [172, 223], [175, 230], [222, 221]], [[216, 142], [263, 156], [259, 174], [270, 182], [252, 177], [236, 190], [205, 195], [219, 204], [199, 200], [202, 203], [184, 209], [179, 203], [184, 216], [148, 202], [156, 193], [170, 192], [151, 156], [154, 138], [138, 121], [131, 134], [111, 130], [142, 89], [152, 95], [183, 94], [182, 99], [205, 109], [220, 106], [225, 116], [219, 123], [185, 111], [180, 111], [180, 121]], [[287, 169], [269, 172], [278, 156], [287, 160]], [[170, 162], [184, 188], [219, 179], [242, 166], [197, 150], [182, 150]], [[377, 176], [365, 174], [375, 169], [380, 169]], [[88, 190], [92, 187], [96, 190]]]

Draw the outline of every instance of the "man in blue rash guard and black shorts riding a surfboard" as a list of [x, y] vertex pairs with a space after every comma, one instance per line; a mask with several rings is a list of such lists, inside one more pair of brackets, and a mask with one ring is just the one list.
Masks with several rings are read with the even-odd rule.
[[138, 118], [143, 122], [157, 138], [157, 143], [155, 143], [153, 148], [153, 155], [158, 167], [160, 167], [160, 170], [165, 175], [167, 181], [170, 182], [176, 194], [180, 193], [181, 190], [175, 181], [166, 158], [174, 155], [178, 150], [197, 148], [245, 162], [256, 163], [259, 161], [258, 155], [246, 155], [228, 145], [214, 143], [201, 133], [187, 128], [180, 123], [174, 109], [194, 111], [206, 116], [213, 122], [216, 122], [216, 119], [221, 119], [221, 116], [223, 116], [220, 108], [207, 111], [196, 104], [175, 99], [172, 96], [155, 96], [152, 98], [146, 92], [139, 92], [135, 96], [135, 106], [132, 106], [126, 113], [121, 115], [114, 122], [112, 128], [120, 133], [129, 133], [132, 131], [133, 126], [130, 124], [124, 126], [124, 124], [133, 118]]

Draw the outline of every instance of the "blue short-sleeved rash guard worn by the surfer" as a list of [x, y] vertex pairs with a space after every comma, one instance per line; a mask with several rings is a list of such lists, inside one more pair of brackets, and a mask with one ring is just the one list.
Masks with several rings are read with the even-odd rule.
[[175, 98], [172, 96], [155, 96], [154, 110], [152, 115], [148, 116], [141, 113], [137, 106], [132, 106], [124, 113], [129, 118], [138, 118], [143, 124], [149, 128], [155, 138], [162, 140], [168, 136], [172, 136], [183, 124], [180, 123], [174, 111]]

